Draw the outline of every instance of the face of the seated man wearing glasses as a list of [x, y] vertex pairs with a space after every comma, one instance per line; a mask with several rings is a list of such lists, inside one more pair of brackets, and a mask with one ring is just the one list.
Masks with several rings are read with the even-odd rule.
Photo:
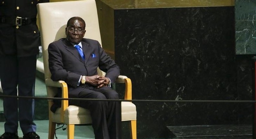
[[[77, 30], [83, 30], [83, 31], [79, 33]], [[69, 26], [66, 27], [67, 39], [74, 44], [78, 44], [79, 42], [82, 41], [83, 37], [85, 36], [85, 32], [86, 32], [85, 25], [83, 24], [83, 22], [77, 19], [71, 20], [69, 23]]]

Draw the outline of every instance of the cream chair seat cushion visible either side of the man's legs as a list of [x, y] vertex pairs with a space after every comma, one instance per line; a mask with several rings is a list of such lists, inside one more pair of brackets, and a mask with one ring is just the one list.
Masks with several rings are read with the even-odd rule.
[[[121, 102], [122, 121], [136, 120], [136, 106], [132, 102]], [[52, 122], [60, 122], [60, 108], [55, 113], [52, 112]], [[64, 123], [68, 124], [88, 124], [92, 123], [90, 111], [76, 105], [69, 105], [64, 111]]]

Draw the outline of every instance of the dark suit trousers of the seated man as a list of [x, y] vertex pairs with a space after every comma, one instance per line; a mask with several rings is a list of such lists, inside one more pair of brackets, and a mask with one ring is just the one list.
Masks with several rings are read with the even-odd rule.
[[[110, 87], [88, 87], [78, 94], [86, 99], [119, 99]], [[80, 101], [79, 106], [89, 109], [95, 139], [121, 139], [121, 102]]]

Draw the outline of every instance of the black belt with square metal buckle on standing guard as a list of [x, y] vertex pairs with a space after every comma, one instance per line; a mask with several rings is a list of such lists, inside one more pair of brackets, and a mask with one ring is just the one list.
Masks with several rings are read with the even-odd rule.
[[36, 17], [27, 18], [27, 17], [0, 17], [0, 23], [6, 23], [13, 26], [22, 26], [27, 24], [35, 24], [36, 23]]

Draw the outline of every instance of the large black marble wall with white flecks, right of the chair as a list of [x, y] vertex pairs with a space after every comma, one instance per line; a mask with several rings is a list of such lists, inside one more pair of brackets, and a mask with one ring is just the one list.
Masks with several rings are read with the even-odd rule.
[[[236, 55], [234, 6], [110, 11], [114, 58], [132, 80], [133, 99], [252, 100], [253, 64]], [[134, 103], [138, 138], [159, 138], [166, 126], [253, 120], [250, 103]]]

